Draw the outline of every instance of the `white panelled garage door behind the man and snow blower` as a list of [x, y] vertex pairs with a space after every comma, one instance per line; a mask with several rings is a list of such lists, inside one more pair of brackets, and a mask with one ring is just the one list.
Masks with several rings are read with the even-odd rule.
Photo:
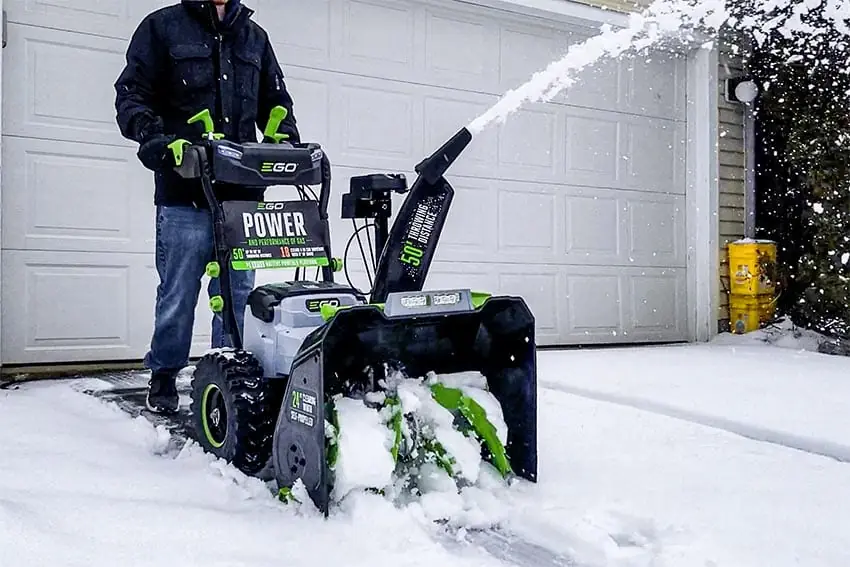
[[[118, 133], [112, 85], [137, 23], [169, 2], [5, 1], [3, 362], [138, 359], [156, 286], [153, 189]], [[332, 216], [351, 175], [412, 181], [413, 165], [500, 93], [594, 33], [455, 1], [246, 4], [275, 42], [303, 137], [335, 165]], [[428, 287], [520, 294], [542, 344], [684, 339], [684, 60], [588, 77], [457, 162]], [[332, 229], [340, 254], [350, 221]]]

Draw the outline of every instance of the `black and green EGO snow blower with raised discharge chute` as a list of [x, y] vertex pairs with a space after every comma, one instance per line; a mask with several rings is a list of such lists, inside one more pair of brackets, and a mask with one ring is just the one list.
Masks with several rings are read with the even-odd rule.
[[[213, 132], [204, 111], [190, 119], [204, 124], [199, 141], [171, 146], [177, 172], [200, 179], [212, 210], [216, 258], [207, 275], [220, 279], [221, 296], [212, 297], [210, 307], [232, 345], [196, 364], [191, 410], [199, 443], [246, 474], [272, 470], [281, 495], [300, 482], [327, 515], [340, 439], [354, 434], [340, 420], [342, 400], [363, 400], [379, 412], [387, 431], [380, 450], [392, 466], [430, 459], [460, 475], [457, 443], [441, 442], [433, 427], [422, 426], [405, 409], [409, 396], [393, 387], [399, 384], [394, 377], [430, 377], [420, 391], [451, 416], [463, 439], [477, 444], [481, 462], [502, 477], [536, 482], [532, 313], [518, 297], [423, 289], [454, 194], [444, 173], [471, 141], [469, 131], [460, 130], [419, 163], [409, 189], [402, 174], [351, 178], [342, 217], [372, 222], [355, 224], [348, 244], [370, 228], [375, 239], [372, 287], [363, 292], [331, 253], [328, 157], [318, 144], [290, 144], [277, 133], [285, 113], [273, 110], [263, 143], [236, 144]], [[219, 202], [216, 182], [292, 186], [298, 197]], [[390, 228], [393, 193], [407, 195]], [[363, 261], [368, 269], [365, 252]], [[228, 268], [293, 268], [296, 274], [251, 292], [240, 333]], [[307, 268], [316, 269], [313, 279]], [[343, 270], [348, 285], [334, 281]], [[497, 407], [462, 384], [433, 379], [469, 372], [483, 377]]]

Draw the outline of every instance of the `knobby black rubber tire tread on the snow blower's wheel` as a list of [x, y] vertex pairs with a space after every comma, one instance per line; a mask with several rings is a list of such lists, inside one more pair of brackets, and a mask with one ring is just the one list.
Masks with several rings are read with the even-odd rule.
[[[226, 394], [233, 401], [236, 426], [229, 432], [236, 447], [229, 460], [247, 475], [260, 472], [271, 458], [276, 411], [271, 403], [269, 381], [263, 377], [260, 363], [246, 352], [213, 353], [204, 356], [196, 366], [196, 375], [212, 372], [223, 378]], [[193, 385], [194, 385], [193, 378]], [[201, 399], [192, 400], [192, 413], [199, 415]]]

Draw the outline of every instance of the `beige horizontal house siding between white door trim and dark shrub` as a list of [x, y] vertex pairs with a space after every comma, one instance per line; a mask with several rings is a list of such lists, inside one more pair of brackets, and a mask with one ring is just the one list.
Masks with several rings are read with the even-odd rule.
[[[566, 0], [569, 1], [569, 0]], [[651, 0], [574, 0], [628, 12], [651, 4]], [[725, 44], [726, 42], [724, 42]], [[718, 85], [720, 94], [718, 125], [718, 150], [720, 160], [720, 297], [717, 319], [720, 331], [728, 330], [729, 324], [729, 242], [743, 238], [746, 191], [744, 186], [746, 157], [744, 153], [744, 113], [740, 105], [726, 102], [726, 79], [742, 72], [740, 56], [728, 47], [720, 48]]]

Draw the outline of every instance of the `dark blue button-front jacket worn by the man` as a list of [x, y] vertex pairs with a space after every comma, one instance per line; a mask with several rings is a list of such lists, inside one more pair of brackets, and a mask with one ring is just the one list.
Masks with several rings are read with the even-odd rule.
[[[202, 126], [186, 124], [198, 112], [209, 109], [226, 139], [256, 142], [257, 128], [281, 105], [289, 114], [279, 131], [300, 141], [283, 72], [253, 13], [230, 0], [219, 22], [208, 0], [182, 0], [149, 14], [133, 34], [115, 83], [115, 109], [121, 134], [139, 144], [139, 160], [154, 172], [157, 205], [206, 206], [198, 181], [173, 171], [167, 148], [177, 138], [199, 138]], [[222, 200], [263, 195], [226, 186], [217, 193]]]

